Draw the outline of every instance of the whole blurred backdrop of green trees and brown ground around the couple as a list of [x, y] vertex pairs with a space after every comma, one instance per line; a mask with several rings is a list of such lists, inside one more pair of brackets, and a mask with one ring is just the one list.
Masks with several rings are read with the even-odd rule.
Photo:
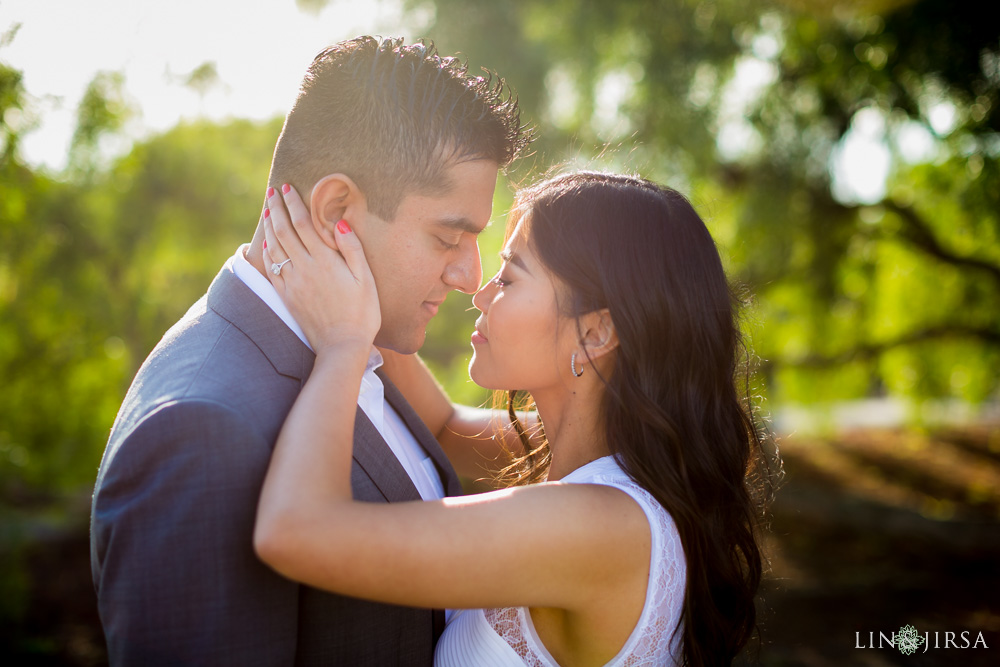
[[[443, 54], [500, 72], [538, 129], [498, 188], [486, 275], [517, 184], [627, 170], [688, 194], [753, 295], [755, 392], [788, 470], [756, 658], [997, 664], [995, 19], [933, 0], [403, 6]], [[101, 664], [97, 464], [138, 365], [249, 240], [281, 119], [189, 121], [109, 157], [135, 110], [121, 73], [102, 72], [65, 169], [33, 167], [19, 152], [32, 107], [3, 59], [16, 39], [0, 37], [0, 646]], [[215, 85], [203, 73], [192, 86]], [[448, 299], [422, 354], [480, 403], [469, 306]], [[984, 632], [989, 649], [855, 646], [905, 623], [932, 641]]]

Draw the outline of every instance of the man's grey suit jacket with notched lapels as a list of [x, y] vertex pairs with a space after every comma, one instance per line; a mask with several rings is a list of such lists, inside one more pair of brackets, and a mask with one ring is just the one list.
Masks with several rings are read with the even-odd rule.
[[[101, 461], [91, 566], [112, 664], [426, 665], [443, 615], [297, 585], [253, 552], [257, 497], [313, 354], [228, 268], [139, 369]], [[385, 378], [386, 399], [454, 471]], [[420, 498], [358, 409], [354, 497]]]

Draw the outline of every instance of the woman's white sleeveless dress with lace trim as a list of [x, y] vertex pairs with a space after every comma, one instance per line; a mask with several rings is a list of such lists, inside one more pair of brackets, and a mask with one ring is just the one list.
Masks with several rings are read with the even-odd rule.
[[[652, 535], [649, 585], [639, 622], [607, 664], [614, 667], [681, 664], [680, 628], [687, 567], [681, 538], [670, 514], [606, 456], [574, 470], [561, 481], [606, 484], [631, 496], [649, 519]], [[545, 649], [525, 607], [463, 609], [438, 641], [435, 667], [558, 667]]]

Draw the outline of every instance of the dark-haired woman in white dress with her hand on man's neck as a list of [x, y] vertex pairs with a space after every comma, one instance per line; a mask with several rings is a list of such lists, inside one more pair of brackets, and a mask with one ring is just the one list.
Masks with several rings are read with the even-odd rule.
[[[265, 481], [260, 557], [346, 595], [466, 610], [438, 665], [731, 662], [755, 626], [766, 461], [734, 385], [733, 299], [688, 202], [597, 173], [521, 191], [503, 266], [473, 298], [469, 366], [533, 399], [535, 427], [510, 410], [521, 484], [378, 506], [353, 502], [349, 479], [374, 282], [346, 223], [337, 253], [294, 191], [294, 226], [279, 203], [265, 260], [292, 260], [272, 282], [317, 356]], [[471, 460], [488, 425], [442, 412], [415, 358], [391, 365], [422, 417], [445, 415], [449, 456]]]

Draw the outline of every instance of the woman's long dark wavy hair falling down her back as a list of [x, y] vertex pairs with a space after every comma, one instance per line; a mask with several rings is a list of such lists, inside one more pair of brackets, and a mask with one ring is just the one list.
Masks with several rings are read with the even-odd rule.
[[[756, 628], [757, 529], [780, 462], [765, 453], [754, 419], [738, 299], [715, 243], [682, 195], [631, 176], [544, 181], [518, 194], [508, 236], [522, 219], [528, 243], [565, 287], [563, 315], [610, 311], [619, 347], [602, 378], [604, 437], [680, 533], [684, 662], [730, 664]], [[527, 445], [514, 398], [511, 417]], [[507, 478], [536, 481], [549, 461], [546, 445], [526, 446]]]

